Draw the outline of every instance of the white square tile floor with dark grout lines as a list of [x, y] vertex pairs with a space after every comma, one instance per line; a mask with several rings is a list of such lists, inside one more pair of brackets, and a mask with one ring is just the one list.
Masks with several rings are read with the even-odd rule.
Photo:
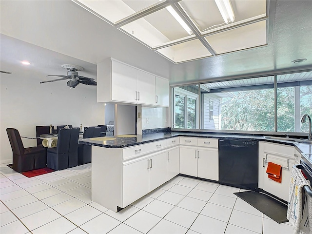
[[176, 176], [118, 213], [91, 200], [91, 164], [27, 178], [0, 165], [1, 234], [291, 234], [233, 193]]

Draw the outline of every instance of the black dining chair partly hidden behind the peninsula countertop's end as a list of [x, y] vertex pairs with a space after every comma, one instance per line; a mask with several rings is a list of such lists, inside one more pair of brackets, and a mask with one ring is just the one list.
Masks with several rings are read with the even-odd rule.
[[[101, 127], [85, 127], [83, 138], [100, 137]], [[78, 165], [91, 162], [91, 145], [78, 144]]]

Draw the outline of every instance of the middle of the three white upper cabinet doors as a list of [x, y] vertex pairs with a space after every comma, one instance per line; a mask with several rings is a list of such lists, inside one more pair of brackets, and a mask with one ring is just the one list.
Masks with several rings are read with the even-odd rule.
[[155, 105], [155, 76], [137, 70], [137, 103]]

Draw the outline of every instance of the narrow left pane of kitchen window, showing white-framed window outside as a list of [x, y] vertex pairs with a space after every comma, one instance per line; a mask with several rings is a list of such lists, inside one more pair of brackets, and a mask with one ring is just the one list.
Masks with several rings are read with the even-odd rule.
[[[197, 128], [198, 85], [174, 88], [174, 127]], [[197, 91], [196, 91], [197, 87]]]

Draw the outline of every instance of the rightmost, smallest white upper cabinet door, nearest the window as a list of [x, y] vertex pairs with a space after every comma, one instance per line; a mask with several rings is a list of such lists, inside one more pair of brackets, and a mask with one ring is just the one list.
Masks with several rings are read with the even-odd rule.
[[169, 106], [169, 80], [155, 78], [156, 106]]

